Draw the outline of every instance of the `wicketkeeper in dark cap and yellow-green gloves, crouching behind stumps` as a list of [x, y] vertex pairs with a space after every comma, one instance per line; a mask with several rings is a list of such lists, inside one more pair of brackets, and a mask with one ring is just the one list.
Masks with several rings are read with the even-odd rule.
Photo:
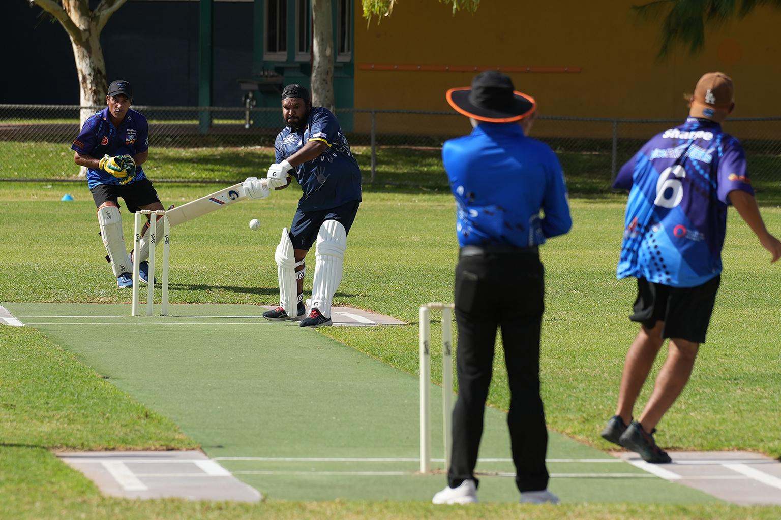
[[[141, 166], [149, 157], [149, 126], [143, 115], [130, 108], [133, 87], [124, 80], [114, 81], [109, 85], [105, 99], [108, 106], [84, 122], [71, 149], [74, 150], [73, 161], [87, 168], [87, 185], [98, 207], [103, 245], [116, 276], [116, 285], [132, 287], [130, 273], [136, 259], [125, 249], [119, 197], [123, 198], [130, 213], [164, 208]], [[139, 278], [144, 283], [149, 279], [147, 228], [148, 222], [138, 255], [141, 262]], [[157, 233], [162, 235], [162, 219]]]

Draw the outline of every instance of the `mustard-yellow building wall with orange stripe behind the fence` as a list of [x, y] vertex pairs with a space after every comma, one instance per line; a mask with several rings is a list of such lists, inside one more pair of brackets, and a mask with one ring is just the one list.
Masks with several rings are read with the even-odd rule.
[[659, 23], [638, 23], [630, 9], [637, 3], [482, 0], [473, 16], [452, 16], [437, 0], [401, 0], [391, 17], [367, 27], [356, 2], [355, 107], [451, 110], [445, 91], [468, 86], [474, 76], [362, 70], [362, 64], [569, 66], [581, 72], [510, 76], [517, 90], [537, 99], [541, 115], [658, 119], [685, 117], [683, 94], [703, 73], [720, 70], [736, 85], [734, 117], [781, 115], [781, 9], [757, 9], [708, 30], [700, 54], [676, 48], [658, 63]]

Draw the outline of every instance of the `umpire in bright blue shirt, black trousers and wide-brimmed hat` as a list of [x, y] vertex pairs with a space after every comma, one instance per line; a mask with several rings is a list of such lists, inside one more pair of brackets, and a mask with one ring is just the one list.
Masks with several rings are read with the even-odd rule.
[[526, 137], [537, 103], [516, 92], [509, 76], [481, 73], [471, 88], [448, 90], [447, 98], [474, 130], [442, 148], [461, 246], [455, 268], [458, 401], [448, 487], [434, 495], [433, 503], [477, 502], [474, 469], [501, 326], [521, 502], [558, 504], [547, 490], [545, 467], [547, 430], [540, 398], [544, 268], [537, 248], [572, 227], [562, 167], [551, 148]]

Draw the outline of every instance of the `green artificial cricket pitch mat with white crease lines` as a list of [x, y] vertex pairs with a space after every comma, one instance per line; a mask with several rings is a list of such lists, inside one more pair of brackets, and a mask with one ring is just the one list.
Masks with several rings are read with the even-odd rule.
[[[2, 305], [269, 498], [430, 501], [446, 484], [415, 474], [417, 377], [298, 324], [262, 320], [259, 306], [172, 305], [169, 317], [130, 317], [121, 304]], [[438, 458], [440, 403], [433, 385]], [[482, 501], [518, 501], [513, 479], [501, 476], [513, 472], [505, 419], [486, 409], [480, 458], [499, 460], [478, 464]], [[547, 456], [551, 489], [565, 502], [716, 501], [558, 433]]]

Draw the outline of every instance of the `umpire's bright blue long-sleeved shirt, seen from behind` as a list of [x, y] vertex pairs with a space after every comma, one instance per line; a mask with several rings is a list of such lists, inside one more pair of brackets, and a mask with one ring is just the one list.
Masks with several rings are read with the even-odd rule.
[[558, 157], [518, 124], [481, 122], [445, 142], [442, 161], [460, 246], [538, 246], [572, 228]]

